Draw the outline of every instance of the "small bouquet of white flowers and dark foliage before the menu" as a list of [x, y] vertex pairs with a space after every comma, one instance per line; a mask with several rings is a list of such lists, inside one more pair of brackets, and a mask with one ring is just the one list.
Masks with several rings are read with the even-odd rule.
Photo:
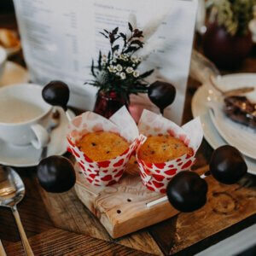
[[106, 29], [100, 32], [104, 38], [109, 40], [110, 50], [108, 55], [102, 55], [100, 50], [97, 64], [92, 60], [90, 70], [95, 79], [85, 83], [99, 87], [99, 92], [115, 92], [125, 97], [127, 102], [131, 94], [148, 91], [145, 78], [154, 72], [154, 70], [149, 70], [141, 74], [138, 71], [143, 60], [135, 53], [143, 48], [143, 31], [134, 29], [129, 22], [128, 26], [131, 32], [129, 36], [119, 32], [119, 27], [111, 32]]

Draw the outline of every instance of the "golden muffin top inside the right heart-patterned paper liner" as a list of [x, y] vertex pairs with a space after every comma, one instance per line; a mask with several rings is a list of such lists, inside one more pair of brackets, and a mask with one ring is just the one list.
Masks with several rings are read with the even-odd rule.
[[146, 163], [164, 163], [175, 160], [183, 154], [193, 155], [193, 149], [188, 148], [176, 137], [151, 136], [139, 148], [138, 158]]

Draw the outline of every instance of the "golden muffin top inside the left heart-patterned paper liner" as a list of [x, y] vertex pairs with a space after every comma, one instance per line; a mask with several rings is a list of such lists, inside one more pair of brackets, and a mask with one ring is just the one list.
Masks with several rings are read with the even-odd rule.
[[78, 148], [91, 160], [111, 160], [124, 153], [130, 144], [125, 138], [109, 131], [87, 133], [77, 142]]

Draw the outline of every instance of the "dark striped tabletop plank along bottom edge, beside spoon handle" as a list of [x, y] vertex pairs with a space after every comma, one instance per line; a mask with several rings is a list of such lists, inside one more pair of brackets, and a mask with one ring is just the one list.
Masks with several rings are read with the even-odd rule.
[[[29, 239], [35, 256], [149, 255], [113, 242], [97, 240], [64, 230], [52, 229]], [[21, 242], [5, 247], [7, 255], [23, 256]]]

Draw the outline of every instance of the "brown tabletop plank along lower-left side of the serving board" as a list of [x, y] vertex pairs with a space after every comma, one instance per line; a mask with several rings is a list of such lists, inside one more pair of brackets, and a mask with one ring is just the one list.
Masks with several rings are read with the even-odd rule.
[[143, 252], [162, 254], [147, 230], [113, 240], [98, 219], [79, 201], [74, 189], [59, 195], [47, 193], [43, 189], [40, 189], [40, 193], [55, 227], [106, 241], [115, 241]]

